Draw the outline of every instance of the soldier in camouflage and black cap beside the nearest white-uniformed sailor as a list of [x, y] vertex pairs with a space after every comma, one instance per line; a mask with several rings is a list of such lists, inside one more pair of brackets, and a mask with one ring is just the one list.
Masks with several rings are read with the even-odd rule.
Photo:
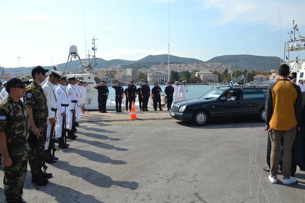
[[[32, 70], [33, 82], [26, 88], [24, 97], [25, 106], [29, 113], [29, 159], [28, 163], [31, 167], [32, 183], [46, 185], [47, 178], [51, 178], [52, 174], [47, 174], [42, 171], [39, 163], [40, 156], [38, 154], [38, 140], [42, 139], [40, 152], [44, 151], [44, 142], [47, 131], [48, 108], [46, 96], [40, 84], [45, 80], [46, 73], [49, 70], [43, 69], [42, 66], [36, 66]], [[42, 178], [43, 177], [43, 178]]]

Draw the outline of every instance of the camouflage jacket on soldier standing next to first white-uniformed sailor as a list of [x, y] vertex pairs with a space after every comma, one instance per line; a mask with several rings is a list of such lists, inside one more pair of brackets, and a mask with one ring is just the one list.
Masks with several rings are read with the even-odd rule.
[[[24, 97], [24, 103], [26, 107], [32, 107], [34, 121], [38, 119], [45, 119], [48, 117], [47, 98], [43, 92], [43, 89], [36, 82], [32, 82], [26, 88]], [[36, 123], [37, 126], [37, 123]], [[38, 127], [38, 126], [37, 126]]]

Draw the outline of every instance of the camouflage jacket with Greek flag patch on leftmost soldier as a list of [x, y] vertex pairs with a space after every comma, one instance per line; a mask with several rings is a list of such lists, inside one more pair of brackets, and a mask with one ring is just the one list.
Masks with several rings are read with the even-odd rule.
[[[29, 117], [24, 103], [20, 100], [16, 102], [8, 96], [0, 105], [0, 131], [5, 132], [10, 155], [20, 155], [29, 151], [28, 130]], [[9, 146], [11, 143], [21, 142], [25, 142], [22, 147]]]

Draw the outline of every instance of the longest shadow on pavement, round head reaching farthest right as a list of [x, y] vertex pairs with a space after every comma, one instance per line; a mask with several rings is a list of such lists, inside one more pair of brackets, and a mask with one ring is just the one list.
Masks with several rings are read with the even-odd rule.
[[[113, 181], [111, 177], [106, 176], [104, 174], [98, 173], [91, 168], [88, 167], [79, 167], [70, 165], [66, 161], [59, 161], [60, 164], [57, 164], [55, 167], [65, 170], [70, 173], [72, 176], [77, 176], [82, 178], [84, 181], [96, 185], [98, 187], [109, 188], [112, 185], [117, 185], [119, 187], [128, 188], [130, 190], [135, 190], [138, 188], [137, 182], [129, 182], [129, 181]], [[90, 202], [90, 201], [87, 201]]]

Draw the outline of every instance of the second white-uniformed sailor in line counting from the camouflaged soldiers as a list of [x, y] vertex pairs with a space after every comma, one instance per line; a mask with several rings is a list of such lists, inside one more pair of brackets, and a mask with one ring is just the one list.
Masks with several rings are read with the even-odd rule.
[[[67, 112], [69, 107], [68, 93], [66, 91], [67, 78], [61, 77], [56, 89], [56, 106], [57, 106], [57, 139], [58, 147], [67, 149], [68, 145], [65, 144], [64, 137], [62, 137], [63, 129], [66, 128]], [[64, 131], [65, 132], [65, 131]]]

